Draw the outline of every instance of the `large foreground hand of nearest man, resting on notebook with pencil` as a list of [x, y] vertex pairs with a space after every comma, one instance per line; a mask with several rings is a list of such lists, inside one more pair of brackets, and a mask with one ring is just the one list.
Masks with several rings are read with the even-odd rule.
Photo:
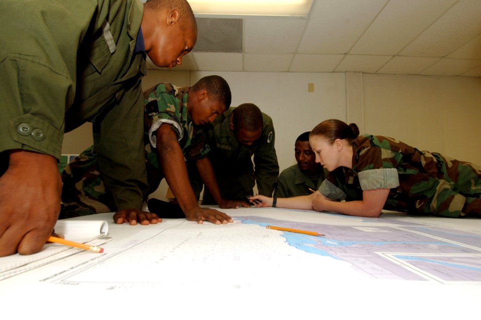
[[60, 212], [57, 159], [13, 150], [0, 177], [0, 256], [39, 252], [52, 234]]

